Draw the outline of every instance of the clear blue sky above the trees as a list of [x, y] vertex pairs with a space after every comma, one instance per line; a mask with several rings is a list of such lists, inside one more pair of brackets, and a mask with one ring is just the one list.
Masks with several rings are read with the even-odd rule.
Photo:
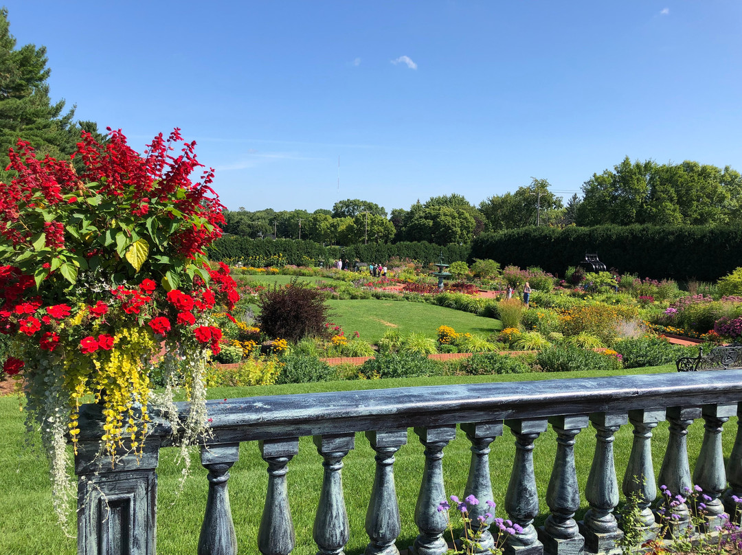
[[137, 149], [182, 128], [231, 209], [580, 191], [626, 155], [742, 171], [738, 0], [4, 5], [52, 99]]

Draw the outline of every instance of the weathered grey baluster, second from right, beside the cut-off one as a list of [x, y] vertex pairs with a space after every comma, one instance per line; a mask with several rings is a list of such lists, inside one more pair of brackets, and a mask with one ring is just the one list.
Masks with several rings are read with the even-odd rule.
[[[695, 508], [697, 516], [703, 519], [703, 532], [713, 530], [720, 525], [720, 515], [724, 512], [724, 505], [719, 496], [726, 489], [726, 473], [724, 471], [724, 454], [721, 449], [721, 430], [724, 422], [737, 414], [737, 404], [707, 404], [703, 407], [701, 416], [704, 424], [703, 443], [696, 461], [693, 481], [700, 486], [703, 492], [698, 498]], [[703, 496], [708, 496], [706, 499]], [[706, 508], [698, 505], [703, 503]]]

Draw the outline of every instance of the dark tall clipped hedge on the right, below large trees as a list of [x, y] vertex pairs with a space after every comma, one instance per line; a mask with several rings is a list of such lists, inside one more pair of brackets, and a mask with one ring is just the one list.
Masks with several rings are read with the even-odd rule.
[[641, 277], [715, 281], [742, 266], [742, 229], [708, 226], [596, 226], [521, 228], [482, 234], [472, 258], [503, 266], [540, 266], [564, 275], [585, 253], [597, 252], [608, 268]]

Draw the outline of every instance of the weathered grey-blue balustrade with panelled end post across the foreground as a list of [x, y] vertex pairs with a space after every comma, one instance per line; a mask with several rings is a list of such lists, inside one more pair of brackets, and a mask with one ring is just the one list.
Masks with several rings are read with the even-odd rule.
[[[624, 495], [635, 494], [645, 538], [659, 528], [657, 482], [651, 456], [652, 430], [669, 420], [669, 441], [659, 471], [660, 482], [673, 492], [700, 485], [706, 502], [700, 533], [713, 531], [726, 509], [735, 510], [732, 496], [742, 496], [742, 434], [739, 432], [725, 468], [723, 424], [737, 416], [742, 401], [742, 370], [697, 374], [633, 375], [615, 378], [563, 379], [496, 384], [409, 387], [305, 395], [278, 395], [209, 402], [211, 434], [202, 448], [201, 463], [209, 471], [209, 496], [200, 532], [199, 555], [237, 554], [229, 505], [229, 470], [237, 462], [243, 441], [257, 441], [269, 480], [263, 517], [255, 539], [264, 555], [288, 555], [295, 548], [286, 473], [298, 453], [299, 438], [313, 436], [322, 456], [323, 473], [313, 539], [318, 554], [342, 555], [349, 539], [344, 502], [343, 459], [355, 447], [356, 433], [365, 432], [375, 451], [375, 478], [365, 528], [367, 555], [397, 555], [401, 530], [395, 492], [395, 453], [407, 443], [413, 428], [424, 446], [424, 470], [415, 508], [419, 533], [411, 546], [416, 555], [441, 555], [446, 521], [436, 510], [446, 499], [442, 461], [444, 450], [459, 425], [471, 443], [465, 495], [492, 499], [488, 454], [499, 444], [504, 427], [516, 451], [505, 496], [507, 517], [522, 532], [508, 537], [506, 553], [513, 555], [579, 555], [608, 553], [617, 548], [623, 531], [615, 511], [619, 487], [613, 441], [621, 426], [634, 433], [628, 467], [623, 472]], [[686, 434], [703, 418], [700, 455], [691, 475]], [[111, 468], [95, 458], [98, 423], [92, 407], [81, 416], [82, 445], [76, 458], [79, 475], [78, 552], [81, 555], [154, 555], [157, 512], [157, 460], [161, 447], [171, 444], [164, 421], [158, 421], [143, 455], [125, 458]], [[548, 484], [536, 483], [534, 441], [551, 424], [557, 451]], [[597, 438], [584, 493], [577, 483], [574, 445], [589, 425]], [[623, 470], [623, 469], [620, 469]], [[318, 469], [319, 471], [319, 469]], [[692, 478], [691, 478], [692, 476]], [[541, 528], [537, 491], [546, 488], [548, 516]], [[352, 485], [350, 486], [352, 489]], [[575, 515], [581, 499], [589, 508], [581, 522]], [[473, 509], [473, 518], [485, 506]], [[689, 522], [691, 510], [681, 504], [676, 528]], [[477, 512], [479, 511], [479, 512]], [[482, 549], [494, 543], [486, 524]], [[255, 544], [253, 544], [254, 546]], [[245, 551], [252, 551], [249, 546]]]

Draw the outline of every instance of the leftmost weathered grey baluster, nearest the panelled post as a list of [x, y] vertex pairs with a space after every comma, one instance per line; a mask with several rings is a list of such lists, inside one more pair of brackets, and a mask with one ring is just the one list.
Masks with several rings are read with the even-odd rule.
[[209, 470], [209, 497], [198, 538], [198, 555], [237, 555], [227, 480], [229, 469], [239, 458], [239, 443], [206, 445], [201, 449], [201, 464]]

